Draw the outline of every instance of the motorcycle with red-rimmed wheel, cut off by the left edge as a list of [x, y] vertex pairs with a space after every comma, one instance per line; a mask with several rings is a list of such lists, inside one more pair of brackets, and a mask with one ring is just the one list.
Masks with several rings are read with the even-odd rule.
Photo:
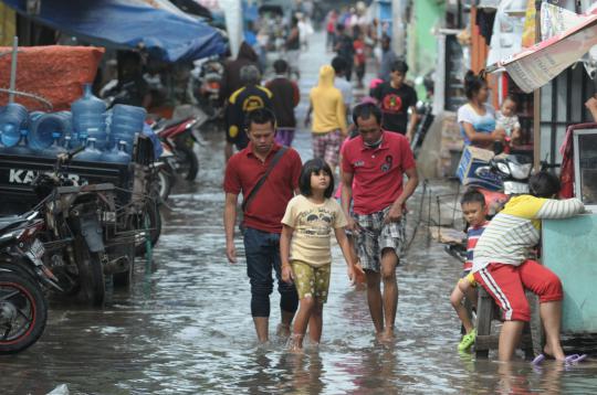
[[45, 288], [62, 290], [44, 265], [39, 212], [0, 217], [0, 354], [34, 344], [48, 319]]

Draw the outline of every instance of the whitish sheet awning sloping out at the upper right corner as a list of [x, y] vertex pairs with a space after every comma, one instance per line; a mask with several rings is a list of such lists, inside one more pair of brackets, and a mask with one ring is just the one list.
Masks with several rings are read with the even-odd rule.
[[531, 93], [578, 62], [594, 45], [597, 14], [584, 14], [576, 25], [489, 66], [488, 72], [505, 68], [522, 90]]

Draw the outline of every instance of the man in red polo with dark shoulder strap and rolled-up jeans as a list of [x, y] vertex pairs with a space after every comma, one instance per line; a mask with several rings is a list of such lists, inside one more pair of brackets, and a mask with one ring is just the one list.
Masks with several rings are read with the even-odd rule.
[[[242, 192], [247, 199], [282, 148], [274, 140], [275, 116], [271, 110], [260, 108], [248, 113], [245, 125], [249, 146], [230, 158], [223, 183], [226, 255], [230, 263], [237, 261], [234, 224], [238, 195]], [[298, 306], [294, 285], [282, 281], [280, 234], [286, 204], [294, 196], [294, 192], [298, 191], [301, 168], [301, 157], [295, 150], [287, 148], [261, 189], [244, 207], [244, 252], [247, 274], [251, 281], [251, 314], [260, 342], [269, 339], [272, 268], [275, 270], [281, 296], [282, 323], [279, 334], [290, 335], [290, 324]]]

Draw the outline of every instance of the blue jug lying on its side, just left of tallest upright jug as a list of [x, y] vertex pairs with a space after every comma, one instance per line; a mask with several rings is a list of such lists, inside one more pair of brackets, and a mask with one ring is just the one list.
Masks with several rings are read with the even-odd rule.
[[54, 140], [62, 145], [71, 132], [70, 117], [63, 113], [43, 114], [34, 117], [28, 136], [28, 145], [35, 151], [48, 149]]

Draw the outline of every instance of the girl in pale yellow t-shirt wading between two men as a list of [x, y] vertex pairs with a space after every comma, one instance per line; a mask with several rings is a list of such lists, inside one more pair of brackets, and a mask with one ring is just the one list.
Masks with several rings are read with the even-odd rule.
[[289, 202], [282, 218], [280, 239], [282, 280], [295, 284], [301, 300], [294, 318], [293, 351], [302, 350], [307, 324], [312, 343], [320, 343], [322, 338], [323, 305], [327, 300], [332, 268], [332, 229], [348, 264], [350, 280], [356, 270], [344, 232], [346, 217], [332, 198], [334, 177], [329, 166], [322, 159], [307, 161], [298, 188], [301, 194]]

